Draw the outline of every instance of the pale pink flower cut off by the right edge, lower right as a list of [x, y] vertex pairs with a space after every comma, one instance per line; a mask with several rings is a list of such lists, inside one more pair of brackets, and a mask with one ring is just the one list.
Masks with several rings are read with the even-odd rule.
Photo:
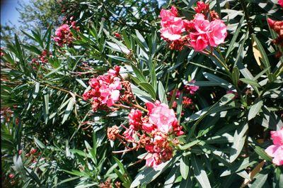
[[283, 127], [279, 131], [271, 131], [273, 145], [270, 145], [265, 152], [273, 157], [275, 165], [283, 165]]

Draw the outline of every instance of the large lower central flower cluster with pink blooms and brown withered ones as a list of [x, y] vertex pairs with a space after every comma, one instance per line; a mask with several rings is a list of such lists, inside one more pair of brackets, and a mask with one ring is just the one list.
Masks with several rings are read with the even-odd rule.
[[[129, 127], [122, 125], [125, 128], [122, 134], [117, 126], [108, 128], [108, 139], [120, 140], [127, 151], [144, 148], [147, 152], [146, 165], [156, 168], [173, 157], [173, 146], [178, 144], [175, 137], [184, 132], [173, 109], [169, 109], [167, 104], [147, 102], [146, 109], [146, 116], [139, 109], [132, 109], [128, 116]], [[133, 143], [134, 147], [129, 148], [127, 143]]]

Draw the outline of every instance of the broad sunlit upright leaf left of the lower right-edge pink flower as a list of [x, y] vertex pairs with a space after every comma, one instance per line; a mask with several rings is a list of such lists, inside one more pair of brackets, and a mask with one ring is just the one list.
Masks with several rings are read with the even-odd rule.
[[230, 150], [230, 162], [233, 162], [240, 155], [243, 145], [246, 141], [246, 133], [248, 131], [248, 123], [242, 121], [234, 133], [233, 144]]

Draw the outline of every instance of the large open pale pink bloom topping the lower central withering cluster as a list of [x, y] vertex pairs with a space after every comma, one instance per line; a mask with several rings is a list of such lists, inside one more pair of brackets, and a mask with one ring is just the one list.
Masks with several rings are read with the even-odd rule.
[[169, 109], [168, 105], [161, 104], [160, 101], [154, 104], [147, 102], [146, 106], [149, 109], [149, 122], [156, 125], [158, 131], [163, 133], [172, 131], [172, 125], [176, 121], [173, 109]]

